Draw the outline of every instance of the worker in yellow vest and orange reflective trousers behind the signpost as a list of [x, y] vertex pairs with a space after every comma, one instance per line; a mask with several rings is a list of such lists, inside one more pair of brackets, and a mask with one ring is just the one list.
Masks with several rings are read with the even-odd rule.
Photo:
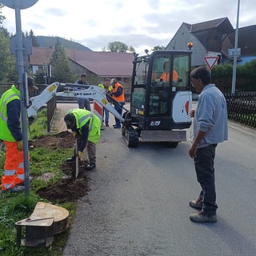
[[[28, 90], [38, 90], [34, 79], [27, 78]], [[22, 129], [20, 124], [21, 102], [18, 85], [12, 85], [0, 99], [0, 139], [6, 146], [2, 192], [22, 192], [24, 187], [24, 160]]]

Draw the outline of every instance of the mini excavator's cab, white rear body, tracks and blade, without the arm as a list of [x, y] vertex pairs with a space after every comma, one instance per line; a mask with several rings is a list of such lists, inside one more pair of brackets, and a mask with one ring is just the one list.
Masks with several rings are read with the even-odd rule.
[[[131, 120], [130, 127], [136, 130], [140, 141], [173, 142], [177, 146], [186, 140], [184, 134], [174, 130], [191, 125], [190, 54], [185, 50], [156, 50], [134, 58], [130, 112], [125, 118]], [[127, 128], [122, 135], [129, 146], [134, 140], [129, 136], [134, 137], [134, 131]]]

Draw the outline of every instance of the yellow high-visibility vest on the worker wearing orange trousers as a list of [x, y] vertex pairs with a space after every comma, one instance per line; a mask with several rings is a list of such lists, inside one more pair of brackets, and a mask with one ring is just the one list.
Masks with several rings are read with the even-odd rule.
[[0, 98], [0, 138], [7, 142], [16, 142], [7, 125], [7, 104], [15, 99], [20, 100], [20, 91], [14, 85]]

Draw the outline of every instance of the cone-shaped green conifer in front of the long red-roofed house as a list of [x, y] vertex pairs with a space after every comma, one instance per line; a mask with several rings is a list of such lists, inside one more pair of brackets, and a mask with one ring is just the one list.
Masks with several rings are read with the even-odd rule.
[[55, 44], [50, 65], [52, 71], [51, 82], [73, 82], [76, 79], [70, 67], [70, 60], [60, 42]]

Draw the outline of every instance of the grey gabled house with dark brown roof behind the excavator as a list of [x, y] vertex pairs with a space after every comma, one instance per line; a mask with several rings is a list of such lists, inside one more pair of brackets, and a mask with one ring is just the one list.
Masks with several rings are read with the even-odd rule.
[[230, 60], [229, 49], [234, 46], [228, 37], [232, 33], [234, 28], [228, 18], [196, 24], [183, 22], [166, 50], [188, 50], [187, 43], [193, 42], [192, 66], [205, 65], [206, 56], [218, 57], [218, 63], [224, 63]]

